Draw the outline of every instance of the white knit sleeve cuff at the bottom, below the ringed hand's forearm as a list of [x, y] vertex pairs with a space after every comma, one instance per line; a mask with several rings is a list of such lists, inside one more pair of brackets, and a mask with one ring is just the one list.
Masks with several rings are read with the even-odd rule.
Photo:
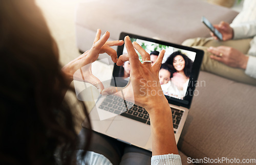
[[151, 165], [181, 165], [180, 155], [167, 154], [151, 157]]

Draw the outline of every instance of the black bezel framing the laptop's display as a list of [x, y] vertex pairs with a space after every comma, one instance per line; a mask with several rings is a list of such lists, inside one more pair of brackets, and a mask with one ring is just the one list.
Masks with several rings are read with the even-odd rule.
[[[190, 75], [189, 83], [188, 83], [188, 88], [187, 88], [187, 92], [189, 91], [190, 93], [191, 92], [194, 93], [194, 90], [195, 90], [195, 87], [196, 87], [195, 84], [196, 84], [197, 79], [198, 79], [198, 75], [199, 75], [199, 72], [200, 72], [200, 67], [201, 67], [201, 63], [202, 63], [203, 55], [204, 55], [204, 52], [202, 50], [187, 47], [187, 46], [183, 46], [183, 45], [178, 45], [178, 44], [175, 44], [175, 43], [156, 40], [156, 39], [153, 39], [153, 38], [147, 38], [147, 37], [143, 37], [143, 36], [139, 36], [139, 35], [135, 35], [135, 34], [131, 34], [131, 33], [125, 33], [125, 32], [122, 32], [120, 34], [119, 40], [124, 40], [124, 37], [127, 36], [127, 35], [130, 38], [142, 39], [142, 40], [145, 40], [145, 41], [155, 42], [155, 43], [159, 43], [159, 44], [163, 44], [163, 45], [167, 45], [167, 46], [173, 46], [173, 47], [178, 48], [178, 49], [195, 52], [196, 57], [195, 57], [195, 60], [194, 60], [194, 64], [193, 64], [193, 67], [192, 67], [192, 71], [191, 71], [191, 75]], [[124, 47], [124, 44], [117, 47], [117, 56], [118, 56], [118, 58], [123, 53], [123, 47]], [[119, 68], [120, 68], [120, 66], [117, 66], [116, 63], [115, 63], [114, 64], [114, 69], [113, 69], [114, 79], [112, 79], [112, 81], [111, 81], [112, 86], [116, 86], [116, 82], [114, 80], [115, 80], [115, 77], [119, 76]], [[125, 82], [127, 84], [127, 81], [124, 81], [124, 83]], [[118, 86], [120, 86], [120, 85], [118, 85]], [[186, 107], [188, 109], [190, 108], [191, 101], [193, 99], [193, 95], [186, 95], [183, 100], [176, 99], [176, 98], [169, 97], [169, 96], [165, 96], [165, 97], [168, 100], [168, 103], [174, 104], [174, 105], [177, 105], [177, 106]]]

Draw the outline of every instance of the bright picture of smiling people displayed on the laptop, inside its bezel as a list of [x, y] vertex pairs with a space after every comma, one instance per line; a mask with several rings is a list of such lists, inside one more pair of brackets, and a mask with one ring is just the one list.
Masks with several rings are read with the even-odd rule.
[[[195, 61], [196, 52], [174, 48], [172, 46], [162, 45], [151, 41], [137, 38], [130, 38], [132, 42], [136, 41], [141, 47], [151, 55], [152, 65], [156, 61], [159, 52], [165, 50], [162, 65], [159, 70], [159, 81], [164, 95], [183, 100]], [[137, 51], [136, 51], [137, 52]], [[127, 54], [124, 46], [122, 54]], [[137, 52], [140, 61], [141, 55]], [[119, 79], [129, 81], [130, 62], [126, 61], [119, 69]]]

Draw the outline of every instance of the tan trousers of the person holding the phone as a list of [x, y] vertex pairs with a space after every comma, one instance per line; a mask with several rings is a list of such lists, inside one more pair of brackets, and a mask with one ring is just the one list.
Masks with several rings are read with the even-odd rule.
[[201, 70], [222, 76], [234, 81], [247, 83], [251, 85], [256, 84], [256, 79], [249, 77], [245, 74], [244, 69], [229, 67], [219, 61], [210, 58], [211, 53], [207, 51], [209, 46], [230, 46], [239, 50], [240, 52], [247, 54], [250, 48], [251, 38], [239, 39], [239, 40], [228, 40], [228, 41], [218, 41], [213, 38], [193, 38], [185, 40], [182, 45], [192, 46], [196, 49], [201, 49], [204, 51], [203, 63]]

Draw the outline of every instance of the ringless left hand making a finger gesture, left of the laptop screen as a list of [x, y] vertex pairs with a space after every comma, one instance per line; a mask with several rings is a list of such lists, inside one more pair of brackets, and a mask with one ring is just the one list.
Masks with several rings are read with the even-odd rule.
[[123, 41], [107, 41], [110, 37], [109, 32], [106, 32], [101, 38], [100, 35], [101, 30], [98, 29], [92, 48], [65, 65], [62, 68], [62, 72], [65, 73], [70, 82], [74, 79], [91, 83], [96, 86], [101, 93], [104, 86], [102, 82], [92, 74], [91, 64], [96, 61], [99, 54], [102, 53], [107, 53], [111, 56], [113, 62], [117, 62], [117, 53], [111, 46], [122, 45]]

